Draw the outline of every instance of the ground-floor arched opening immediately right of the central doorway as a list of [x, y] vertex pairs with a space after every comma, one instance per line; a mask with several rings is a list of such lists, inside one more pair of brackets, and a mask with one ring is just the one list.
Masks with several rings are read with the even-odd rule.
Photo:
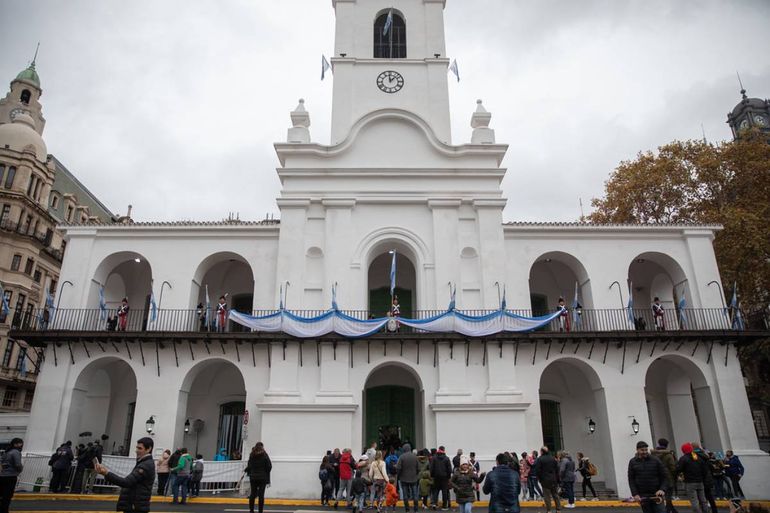
[[[561, 358], [543, 370], [540, 419], [543, 441], [552, 452], [584, 453], [603, 469], [599, 480], [616, 486], [604, 387], [590, 365]], [[595, 423], [594, 433], [588, 429], [589, 420]]]

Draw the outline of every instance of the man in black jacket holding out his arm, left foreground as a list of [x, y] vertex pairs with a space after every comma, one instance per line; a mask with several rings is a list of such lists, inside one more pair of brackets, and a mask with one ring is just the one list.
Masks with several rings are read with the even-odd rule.
[[103, 475], [107, 482], [120, 486], [117, 511], [150, 511], [152, 485], [155, 483], [155, 462], [152, 459], [154, 445], [152, 438], [148, 437], [136, 441], [136, 465], [126, 477], [113, 474], [101, 463], [95, 465], [94, 470]]

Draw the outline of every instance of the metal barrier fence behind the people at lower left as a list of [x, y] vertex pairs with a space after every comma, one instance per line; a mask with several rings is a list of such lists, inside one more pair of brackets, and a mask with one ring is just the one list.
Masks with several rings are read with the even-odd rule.
[[[27, 492], [48, 492], [51, 484], [51, 467], [48, 466], [50, 455], [28, 453], [22, 457], [24, 471], [19, 475], [16, 483], [17, 490]], [[128, 475], [136, 464], [136, 459], [127, 456], [103, 456], [102, 463], [110, 469], [111, 472], [119, 476]], [[243, 471], [246, 468], [246, 461], [204, 461], [203, 478], [201, 479], [200, 491], [213, 495], [222, 492], [233, 492], [239, 490], [239, 482]], [[118, 487], [104, 481], [100, 475], [96, 475], [93, 484], [88, 483], [88, 474], [83, 472], [80, 476], [74, 462], [70, 468], [66, 479], [66, 491], [71, 492], [73, 485], [78, 488], [78, 482], [82, 483], [80, 490], [83, 493], [112, 493], [117, 492]], [[153, 491], [157, 491], [157, 476]], [[171, 490], [167, 490], [167, 495]]]

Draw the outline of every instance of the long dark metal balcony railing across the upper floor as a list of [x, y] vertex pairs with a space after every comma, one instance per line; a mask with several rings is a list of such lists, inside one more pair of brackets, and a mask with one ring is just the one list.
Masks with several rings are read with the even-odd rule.
[[[276, 310], [254, 310], [255, 316], [275, 313]], [[291, 310], [300, 317], [316, 317], [324, 310]], [[373, 315], [367, 310], [344, 310], [343, 313], [356, 319], [370, 319]], [[412, 313], [414, 319], [428, 319], [440, 315], [445, 310], [418, 310]], [[469, 316], [482, 316], [494, 310], [458, 310]], [[533, 317], [531, 310], [508, 310], [523, 317]], [[547, 312], [534, 312], [534, 316]], [[564, 319], [562, 319], [563, 321]], [[0, 324], [11, 324], [11, 329], [18, 331], [125, 331], [125, 332], [206, 332], [214, 331], [214, 313], [209, 316], [209, 326], [200, 310], [158, 310], [155, 320], [151, 320], [149, 311], [131, 310], [126, 318], [125, 329], [120, 329], [116, 310], [59, 309], [10, 311], [0, 315]], [[570, 311], [569, 322], [559, 318], [538, 328], [538, 332], [606, 332], [606, 331], [742, 331], [770, 330], [770, 318], [766, 311], [740, 312], [722, 308], [688, 308], [668, 310], [663, 322], [656, 326], [652, 310], [634, 309], [629, 315], [627, 309], [583, 309], [579, 314]], [[232, 321], [228, 322], [227, 332], [247, 332], [245, 328]], [[413, 332], [404, 326], [400, 332]]]

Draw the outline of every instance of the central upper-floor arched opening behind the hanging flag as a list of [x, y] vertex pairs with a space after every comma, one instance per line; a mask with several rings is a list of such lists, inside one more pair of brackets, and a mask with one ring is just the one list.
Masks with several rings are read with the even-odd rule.
[[[388, 247], [390, 245], [390, 247]], [[413, 317], [417, 310], [417, 273], [414, 255], [399, 242], [382, 243], [372, 251], [375, 255], [369, 264], [369, 312], [374, 317], [384, 317], [391, 309], [390, 273], [393, 253], [396, 252], [396, 288], [401, 317]]]

